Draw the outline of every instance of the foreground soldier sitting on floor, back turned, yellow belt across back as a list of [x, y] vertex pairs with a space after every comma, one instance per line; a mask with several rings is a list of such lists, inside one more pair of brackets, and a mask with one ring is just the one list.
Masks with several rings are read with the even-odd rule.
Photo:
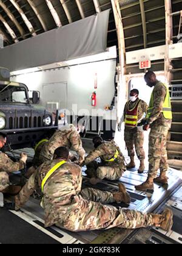
[[[101, 204], [102, 202], [127, 202], [126, 189], [122, 185], [119, 193], [91, 188], [81, 191], [83, 179], [81, 168], [68, 163], [68, 155], [66, 148], [56, 149], [55, 160], [41, 165], [38, 172], [30, 177], [29, 183], [25, 185], [19, 196], [15, 197], [16, 210], [27, 201], [36, 187], [41, 187], [41, 206], [45, 211], [45, 227], [56, 224], [73, 232], [112, 227], [136, 229], [157, 226], [164, 230], [172, 227], [173, 213], [170, 210], [166, 210], [161, 215], [153, 215]], [[51, 168], [57, 164], [59, 167], [57, 166], [52, 172]], [[51, 175], [49, 175], [50, 171]]]

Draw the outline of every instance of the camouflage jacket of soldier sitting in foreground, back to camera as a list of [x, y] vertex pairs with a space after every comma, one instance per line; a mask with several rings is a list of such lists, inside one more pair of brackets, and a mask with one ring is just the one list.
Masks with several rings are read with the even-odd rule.
[[[42, 180], [47, 172], [62, 159], [47, 161], [36, 169], [21, 191], [21, 199], [18, 208], [29, 200], [33, 191], [41, 193]], [[65, 163], [59, 167], [44, 185], [41, 206], [45, 212], [45, 227], [52, 226], [56, 222], [64, 220], [73, 210], [78, 209], [81, 199], [79, 193], [82, 185], [82, 172], [78, 165]]]

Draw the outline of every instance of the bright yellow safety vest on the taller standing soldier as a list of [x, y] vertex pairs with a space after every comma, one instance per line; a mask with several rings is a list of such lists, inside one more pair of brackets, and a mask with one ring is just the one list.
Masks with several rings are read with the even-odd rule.
[[[166, 93], [166, 98], [164, 99], [163, 110], [161, 110], [161, 113], [163, 113], [164, 118], [172, 120], [172, 108], [171, 108], [171, 102], [170, 102], [169, 88], [167, 87], [166, 84], [164, 84], [164, 85], [167, 89], [167, 93]], [[155, 90], [155, 88], [153, 89], [153, 91], [154, 90]], [[149, 108], [147, 110], [147, 119], [150, 118], [150, 115], [153, 111], [153, 108], [154, 108], [153, 104], [154, 104], [154, 93], [152, 92]]]

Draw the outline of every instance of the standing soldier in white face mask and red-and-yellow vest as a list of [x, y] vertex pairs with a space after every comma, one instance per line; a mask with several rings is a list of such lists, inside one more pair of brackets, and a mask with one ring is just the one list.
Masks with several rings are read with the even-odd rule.
[[144, 159], [145, 152], [143, 149], [144, 144], [144, 132], [141, 132], [137, 128], [137, 124], [143, 119], [144, 114], [147, 114], [147, 104], [138, 98], [139, 91], [134, 89], [130, 91], [130, 101], [128, 101], [124, 108], [124, 140], [126, 142], [127, 151], [130, 157], [130, 163], [127, 168], [135, 168], [135, 151], [138, 159], [140, 160], [139, 173], [142, 173], [145, 169]]

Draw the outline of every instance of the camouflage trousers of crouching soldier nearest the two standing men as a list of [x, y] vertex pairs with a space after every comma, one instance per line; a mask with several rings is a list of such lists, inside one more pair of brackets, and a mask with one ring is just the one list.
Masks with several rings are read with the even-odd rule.
[[89, 178], [98, 178], [98, 179], [107, 179], [107, 180], [119, 180], [124, 174], [123, 169], [120, 166], [112, 165], [103, 165], [103, 163], [98, 163], [93, 161], [87, 165], [86, 174]]

